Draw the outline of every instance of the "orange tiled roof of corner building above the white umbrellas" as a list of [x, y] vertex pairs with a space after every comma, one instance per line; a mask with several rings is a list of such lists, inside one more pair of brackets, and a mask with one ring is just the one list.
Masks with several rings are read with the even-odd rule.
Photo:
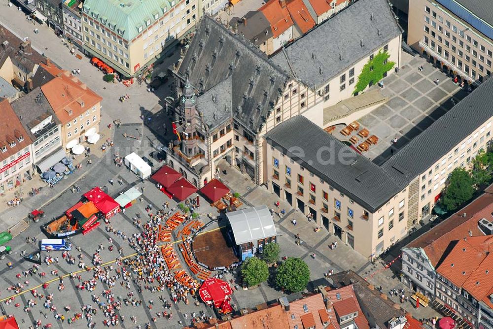
[[41, 66], [55, 75], [53, 80], [41, 86], [41, 91], [62, 124], [68, 123], [101, 102], [102, 98], [99, 95], [77, 78], [70, 77], [69, 72], [53, 64]]

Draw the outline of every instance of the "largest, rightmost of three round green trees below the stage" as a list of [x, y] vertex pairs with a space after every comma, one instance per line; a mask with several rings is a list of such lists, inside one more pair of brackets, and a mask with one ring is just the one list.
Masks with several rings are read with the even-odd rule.
[[278, 268], [276, 274], [277, 285], [290, 293], [297, 293], [308, 285], [310, 268], [300, 258], [289, 257]]

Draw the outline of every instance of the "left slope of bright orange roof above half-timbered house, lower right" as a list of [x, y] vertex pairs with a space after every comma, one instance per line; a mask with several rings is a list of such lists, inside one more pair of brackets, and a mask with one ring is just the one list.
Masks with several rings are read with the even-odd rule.
[[457, 287], [475, 271], [486, 255], [465, 240], [459, 240], [443, 263], [437, 268], [437, 273], [447, 278]]

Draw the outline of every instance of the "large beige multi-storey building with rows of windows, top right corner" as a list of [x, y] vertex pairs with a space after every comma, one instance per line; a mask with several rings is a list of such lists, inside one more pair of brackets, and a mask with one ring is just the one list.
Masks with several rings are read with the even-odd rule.
[[458, 2], [411, 1], [408, 44], [459, 79], [482, 83], [492, 72], [493, 22]]

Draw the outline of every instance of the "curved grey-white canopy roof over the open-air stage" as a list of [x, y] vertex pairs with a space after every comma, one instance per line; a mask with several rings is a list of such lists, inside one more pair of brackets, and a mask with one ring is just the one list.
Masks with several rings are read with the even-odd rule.
[[277, 235], [271, 212], [266, 205], [227, 212], [226, 217], [237, 244], [252, 242], [257, 245], [257, 240]]

